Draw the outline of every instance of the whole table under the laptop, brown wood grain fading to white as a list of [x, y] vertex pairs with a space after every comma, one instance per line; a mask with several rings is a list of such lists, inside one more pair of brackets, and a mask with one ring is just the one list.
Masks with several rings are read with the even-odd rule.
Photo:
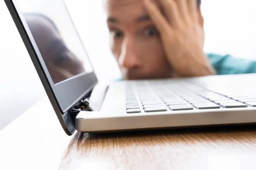
[[0, 170], [256, 169], [256, 127], [67, 136], [47, 99], [0, 131]]

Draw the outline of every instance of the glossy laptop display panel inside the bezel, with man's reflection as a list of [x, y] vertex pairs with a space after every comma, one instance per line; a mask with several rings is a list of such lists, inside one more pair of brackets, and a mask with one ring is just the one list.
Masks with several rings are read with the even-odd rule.
[[54, 84], [93, 71], [63, 0], [17, 0]]

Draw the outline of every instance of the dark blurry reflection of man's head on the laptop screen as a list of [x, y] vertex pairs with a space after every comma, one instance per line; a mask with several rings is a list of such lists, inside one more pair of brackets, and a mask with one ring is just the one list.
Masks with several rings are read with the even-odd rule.
[[52, 20], [41, 14], [24, 16], [55, 84], [85, 71], [83, 62], [67, 48]]

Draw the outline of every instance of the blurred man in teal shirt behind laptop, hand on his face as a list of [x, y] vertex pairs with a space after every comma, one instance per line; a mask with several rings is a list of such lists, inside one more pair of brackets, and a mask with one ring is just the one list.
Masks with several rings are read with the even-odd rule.
[[204, 54], [201, 0], [105, 0], [123, 79], [256, 73], [256, 62]]

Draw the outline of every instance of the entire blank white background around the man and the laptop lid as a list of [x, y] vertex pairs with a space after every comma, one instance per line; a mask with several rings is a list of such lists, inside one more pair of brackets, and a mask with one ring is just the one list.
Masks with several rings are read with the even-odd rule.
[[[205, 51], [256, 59], [256, 1], [202, 0]], [[108, 45], [102, 0], [67, 0], [96, 74], [120, 77]], [[5, 3], [0, 1], [0, 129], [46, 96]], [[36, 114], [36, 113], [35, 113]]]

